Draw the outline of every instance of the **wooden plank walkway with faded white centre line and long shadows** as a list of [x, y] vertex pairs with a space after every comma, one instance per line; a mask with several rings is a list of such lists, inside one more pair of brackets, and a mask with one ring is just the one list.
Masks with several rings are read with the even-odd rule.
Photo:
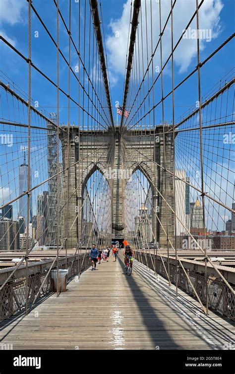
[[234, 324], [135, 262], [127, 277], [123, 258], [97, 265], [25, 317], [0, 325], [0, 344], [13, 349], [223, 349]]

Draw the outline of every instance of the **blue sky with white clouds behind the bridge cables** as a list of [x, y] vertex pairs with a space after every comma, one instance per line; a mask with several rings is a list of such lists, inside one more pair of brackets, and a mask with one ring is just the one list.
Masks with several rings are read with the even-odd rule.
[[[96, 71], [96, 66], [91, 63], [91, 58], [89, 60], [89, 1], [86, 0], [86, 37], [85, 37], [85, 54], [84, 49], [84, 12], [85, 12], [85, 0], [80, 0], [80, 27], [81, 27], [81, 40], [80, 40], [80, 53], [81, 58], [85, 60], [85, 66], [90, 75]], [[56, 40], [56, 6], [53, 0], [34, 0], [33, 5], [38, 11], [39, 15], [42, 17], [44, 23], [50, 30], [52, 36]], [[143, 6], [144, 5], [144, 6]], [[72, 11], [71, 11], [71, 33], [78, 48], [78, 3], [71, 1]], [[146, 0], [147, 7], [147, 28], [148, 34], [150, 34], [150, 0]], [[155, 47], [159, 35], [159, 13], [158, 13], [158, 1], [152, 0], [152, 11], [153, 11], [153, 46]], [[162, 24], [165, 23], [165, 19], [170, 10], [170, 1], [162, 0]], [[28, 23], [27, 23], [27, 7], [28, 3], [26, 0], [0, 0], [0, 34], [6, 38], [12, 45], [15, 46], [25, 57], [28, 56]], [[65, 19], [65, 22], [68, 24], [68, 0], [59, 0], [59, 7], [61, 13]], [[191, 17], [192, 11], [195, 9], [194, 0], [177, 0], [176, 6], [174, 9], [174, 41], [176, 42], [179, 35], [182, 33], [182, 29], [186, 26], [188, 20]], [[100, 11], [100, 9], [99, 9]], [[114, 119], [116, 120], [116, 108], [115, 104], [118, 101], [121, 105], [122, 94], [123, 94], [123, 81], [125, 73], [125, 56], [127, 51], [128, 43], [128, 28], [129, 28], [129, 17], [130, 17], [130, 0], [103, 0], [102, 1], [102, 28], [104, 27], [105, 35], [105, 44], [107, 51], [108, 59], [108, 68], [110, 75], [111, 83], [111, 96], [112, 96], [112, 105]], [[201, 27], [204, 29], [211, 30], [212, 39], [207, 42], [206, 40], [201, 40], [201, 61], [208, 57], [221, 43], [223, 43], [233, 32], [234, 32], [234, 15], [235, 15], [235, 1], [234, 0], [205, 0], [200, 11], [200, 22]], [[145, 0], [142, 0], [142, 17], [143, 17], [143, 28], [146, 27], [145, 24]], [[92, 26], [92, 25], [91, 25]], [[195, 21], [192, 23], [191, 27], [195, 27]], [[143, 33], [144, 34], [144, 33]], [[35, 37], [38, 36], [38, 37]], [[118, 36], [118, 37], [117, 37]], [[63, 52], [64, 56], [68, 58], [68, 35], [65, 31], [63, 24], [60, 21], [59, 24], [59, 44], [60, 49]], [[136, 42], [138, 46], [138, 41]], [[150, 42], [148, 41], [149, 49], [146, 50], [146, 40], [143, 40], [143, 69], [144, 72], [147, 66], [147, 55], [148, 58], [151, 56]], [[170, 24], [167, 27], [167, 30], [163, 36], [163, 60], [166, 59], [170, 52]], [[219, 51], [216, 56], [213, 57], [203, 68], [201, 69], [201, 94], [206, 96], [207, 92], [215, 86], [220, 79], [224, 79], [225, 76], [231, 77], [232, 74], [228, 74], [234, 69], [234, 41], [230, 42], [225, 46], [221, 51]], [[19, 56], [17, 56], [12, 50], [0, 42], [0, 79], [4, 82], [9, 81], [11, 88], [13, 88], [12, 82], [15, 85], [19, 86], [24, 92], [27, 93], [28, 90], [28, 64], [26, 64]], [[159, 65], [159, 49], [156, 52], [154, 57], [154, 67]], [[40, 24], [39, 20], [32, 11], [32, 62], [42, 70], [46, 75], [48, 75], [53, 81], [56, 82], [57, 79], [57, 66], [56, 66], [56, 47], [50, 40], [49, 36], [45, 32], [44, 28]], [[164, 63], [164, 61], [163, 61]], [[75, 68], [78, 64], [78, 57], [73, 47], [71, 47], [71, 67], [75, 71]], [[186, 75], [188, 75], [197, 65], [196, 59], [196, 40], [183, 40], [175, 53], [175, 84], [180, 82]], [[142, 66], [141, 66], [142, 68]], [[81, 71], [81, 70], [80, 70]], [[77, 74], [77, 73], [76, 73]], [[154, 72], [154, 79], [158, 73]], [[233, 72], [234, 74], [234, 72]], [[171, 90], [171, 64], [168, 64], [164, 74], [164, 94], [168, 93]], [[152, 77], [150, 81], [152, 80]], [[136, 86], [137, 86], [137, 82]], [[161, 81], [160, 78], [155, 85], [155, 103], [161, 98]], [[97, 84], [99, 85], [99, 80], [97, 79]], [[68, 69], [64, 61], [60, 57], [59, 60], [59, 85], [62, 89], [67, 92], [68, 89]], [[84, 85], [86, 89], [88, 88], [88, 81], [85, 78]], [[147, 81], [145, 82], [145, 92], [147, 89]], [[218, 86], [217, 86], [218, 87]], [[80, 95], [82, 90], [80, 89]], [[21, 92], [23, 95], [23, 93]], [[39, 75], [37, 72], [32, 69], [32, 98], [34, 101], [37, 101], [39, 104], [40, 110], [45, 110], [47, 113], [57, 111], [57, 91], [56, 87], [53, 87], [45, 78]], [[78, 84], [76, 78], [71, 75], [71, 96], [77, 101], [78, 99]], [[141, 96], [142, 97], [142, 96]], [[186, 83], [179, 87], [175, 92], [175, 118], [176, 120], [183, 116], [190, 108], [195, 108], [196, 101], [198, 99], [197, 92], [197, 75], [194, 74]], [[20, 121], [22, 123], [27, 123], [27, 113], [23, 113], [22, 108], [20, 110], [15, 110], [12, 103], [7, 102], [7, 98], [2, 94], [1, 97], [2, 106], [1, 106], [1, 117], [7, 120]], [[129, 97], [127, 100], [127, 106], [131, 106], [133, 100], [132, 97]], [[152, 99], [151, 99], [152, 100]], [[172, 107], [171, 107], [171, 96], [165, 101], [165, 120], [168, 120], [169, 123], [172, 121]], [[59, 95], [59, 122], [67, 123], [68, 120], [68, 100], [67, 98], [60, 93]], [[87, 99], [85, 98], [84, 106], [88, 105]], [[152, 105], [152, 101], [150, 101]], [[77, 106], [73, 103], [70, 103], [70, 122], [78, 124], [78, 120], [82, 120], [82, 113], [78, 113]], [[136, 107], [133, 108], [127, 124], [129, 126], [134, 123], [137, 117], [131, 118], [136, 110]], [[223, 107], [224, 111], [224, 107]], [[228, 115], [232, 114], [232, 102], [229, 100], [228, 106]], [[230, 117], [228, 116], [227, 119]], [[120, 118], [120, 117], [119, 117]], [[41, 122], [37, 116], [32, 117], [32, 120], [36, 125], [45, 126], [45, 123]], [[84, 116], [84, 127], [94, 126], [89, 122], [89, 118]], [[155, 111], [155, 124], [162, 121], [161, 107]], [[153, 125], [153, 115], [147, 117], [143, 123], [143, 126], [148, 124]], [[185, 125], [187, 126], [187, 124]], [[7, 126], [2, 128], [3, 132], [7, 132]], [[12, 170], [18, 167], [20, 161], [14, 161], [14, 158], [17, 160], [23, 160], [23, 149], [27, 145], [27, 130], [15, 132], [17, 142], [13, 145], [12, 148], [6, 146], [3, 147], [1, 155], [8, 152], [8, 163], [9, 169], [6, 170], [6, 165], [3, 161], [1, 163], [1, 174], [7, 175], [8, 181], [17, 180], [17, 175], [12, 175]], [[34, 152], [32, 153], [32, 172], [40, 170], [40, 178], [33, 180], [32, 184], [39, 183], [40, 181], [46, 179], [47, 176], [47, 164], [46, 164], [46, 142], [47, 137], [43, 133], [35, 132], [33, 133], [32, 146], [35, 147]], [[222, 137], [223, 133], [216, 133], [214, 135], [215, 141], [218, 141], [219, 137]], [[178, 137], [178, 139], [180, 139]], [[181, 138], [182, 139], [182, 138]], [[221, 138], [220, 138], [221, 139]], [[206, 142], [206, 137], [205, 137]], [[180, 142], [178, 142], [178, 147], [180, 147]], [[197, 153], [198, 148], [191, 145], [191, 150], [195, 147]], [[223, 156], [221, 156], [221, 164], [225, 161], [224, 158], [229, 154], [229, 148], [226, 149], [226, 146], [223, 146]], [[184, 147], [178, 149], [178, 155], [186, 159], [187, 154], [190, 150], [190, 139], [184, 138]], [[176, 150], [177, 151], [177, 150]], [[212, 150], [211, 150], [212, 151]], [[180, 153], [181, 152], [181, 153]], [[177, 152], [176, 152], [177, 153]], [[190, 153], [190, 152], [189, 152]], [[17, 157], [15, 157], [17, 155]], [[39, 157], [40, 155], [40, 157]], [[210, 162], [208, 163], [209, 168], [213, 161], [212, 156], [209, 156]], [[181, 161], [180, 167], [188, 169], [188, 174], [190, 175], [191, 180], [195, 179], [194, 172], [197, 171], [198, 164], [198, 154], [195, 155], [195, 165], [190, 170], [190, 166], [187, 166], [186, 160]], [[218, 157], [217, 157], [218, 158]], [[5, 159], [4, 159], [5, 160]], [[192, 161], [193, 163], [193, 161]], [[232, 166], [229, 166], [229, 169], [232, 170]], [[221, 174], [220, 169], [214, 171], [214, 175], [218, 176]], [[232, 176], [230, 175], [230, 180], [232, 181]], [[194, 181], [196, 184], [200, 185], [200, 179]], [[211, 180], [208, 182], [210, 184], [210, 189], [215, 190], [215, 186], [211, 183]], [[9, 184], [9, 183], [8, 183]], [[1, 183], [1, 188], [6, 186], [6, 183], [3, 181]], [[10, 193], [10, 196], [13, 197], [17, 190], [17, 182], [15, 186], [6, 187], [6, 194], [3, 197], [6, 198], [6, 195]], [[44, 188], [42, 188], [44, 189]], [[37, 191], [38, 192], [38, 191]], [[231, 191], [230, 191], [231, 194]], [[36, 198], [36, 196], [35, 196]], [[226, 199], [226, 196], [225, 196]], [[228, 205], [231, 205], [231, 200], [227, 201]]]

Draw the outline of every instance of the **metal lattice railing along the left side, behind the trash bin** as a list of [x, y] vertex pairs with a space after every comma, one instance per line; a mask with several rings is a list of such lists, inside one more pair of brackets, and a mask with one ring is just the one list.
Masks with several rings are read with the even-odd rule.
[[[27, 295], [28, 307], [31, 308], [35, 301], [38, 301], [43, 296], [52, 293], [52, 281], [50, 278], [50, 268], [52, 261], [42, 261], [37, 264], [29, 266], [28, 282], [27, 282]], [[65, 267], [66, 265], [66, 267]], [[89, 266], [88, 255], [84, 258], [80, 254], [76, 256], [68, 256], [67, 262], [65, 257], [59, 258], [59, 269], [68, 269], [67, 280], [70, 281], [82, 271], [86, 270]], [[42, 270], [40, 270], [42, 269]], [[53, 267], [52, 269], [57, 269]], [[9, 269], [0, 270], [1, 282], [8, 277]], [[19, 311], [25, 310], [25, 293], [26, 282], [25, 266], [21, 266], [12, 280], [9, 280], [4, 287], [0, 290], [0, 321], [11, 317]]]

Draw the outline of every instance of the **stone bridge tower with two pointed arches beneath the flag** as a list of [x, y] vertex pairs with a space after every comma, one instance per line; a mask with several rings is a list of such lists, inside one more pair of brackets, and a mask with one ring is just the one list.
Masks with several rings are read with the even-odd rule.
[[[166, 173], [165, 186], [164, 167], [173, 172], [173, 138], [165, 136], [163, 126], [155, 130], [126, 130], [112, 127], [107, 131], [79, 130], [70, 127], [70, 145], [68, 150], [67, 127], [62, 127], [60, 140], [62, 146], [63, 187], [62, 187], [62, 238], [69, 231], [67, 247], [76, 247], [81, 237], [83, 192], [89, 177], [99, 170], [107, 179], [112, 196], [112, 237], [124, 237], [124, 195], [130, 173], [139, 169], [147, 178], [152, 190], [153, 232], [161, 247], [167, 246], [164, 229], [167, 228], [170, 240], [174, 237], [174, 214], [168, 209], [159, 192], [174, 209], [173, 177]], [[65, 131], [64, 131], [65, 130]], [[70, 153], [69, 180], [68, 151]], [[79, 162], [78, 162], [79, 161]], [[128, 170], [128, 173], [125, 171]], [[69, 194], [68, 194], [69, 191]], [[74, 192], [72, 194], [72, 192]], [[70, 197], [66, 203], [66, 196]], [[68, 208], [68, 209], [67, 209]], [[156, 217], [157, 215], [157, 217]], [[162, 226], [159, 224], [161, 221]], [[66, 224], [67, 223], [67, 224]]]

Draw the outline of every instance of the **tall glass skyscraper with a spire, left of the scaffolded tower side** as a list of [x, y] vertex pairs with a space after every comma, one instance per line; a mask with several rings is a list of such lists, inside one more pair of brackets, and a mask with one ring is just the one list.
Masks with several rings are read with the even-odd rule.
[[[31, 171], [30, 173], [30, 188], [31, 188]], [[28, 185], [28, 165], [26, 165], [25, 161], [25, 152], [24, 152], [24, 163], [19, 166], [19, 195], [23, 192], [27, 191]], [[19, 212], [18, 217], [27, 217], [27, 195], [22, 196], [19, 199]], [[32, 204], [32, 196], [29, 198], [29, 221], [33, 216], [33, 204]]]

